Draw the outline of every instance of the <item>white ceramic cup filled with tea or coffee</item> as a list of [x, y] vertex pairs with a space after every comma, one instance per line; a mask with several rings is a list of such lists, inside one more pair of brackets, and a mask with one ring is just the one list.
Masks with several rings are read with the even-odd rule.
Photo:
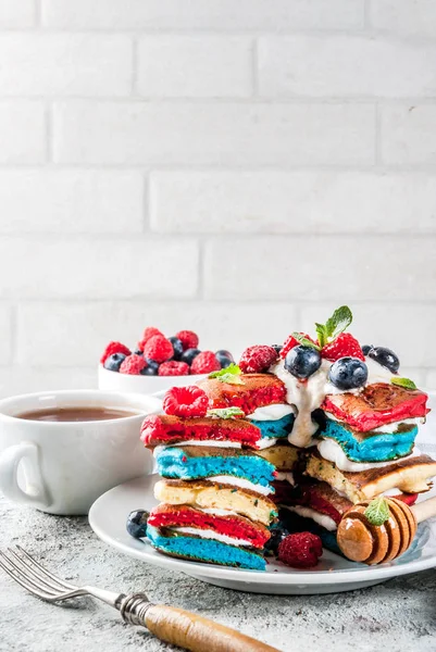
[[[0, 401], [0, 491], [49, 514], [87, 514], [104, 491], [152, 472], [140, 425], [160, 405], [152, 397], [92, 389]], [[130, 415], [88, 422], [18, 417], [59, 408], [112, 408]]]

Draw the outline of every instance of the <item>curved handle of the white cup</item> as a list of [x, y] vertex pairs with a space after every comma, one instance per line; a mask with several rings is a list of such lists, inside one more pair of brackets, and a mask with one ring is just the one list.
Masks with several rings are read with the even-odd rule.
[[[26, 490], [18, 485], [18, 465], [23, 461]], [[33, 441], [11, 446], [0, 454], [0, 491], [10, 500], [45, 510], [50, 506], [49, 491], [39, 465], [39, 448]]]

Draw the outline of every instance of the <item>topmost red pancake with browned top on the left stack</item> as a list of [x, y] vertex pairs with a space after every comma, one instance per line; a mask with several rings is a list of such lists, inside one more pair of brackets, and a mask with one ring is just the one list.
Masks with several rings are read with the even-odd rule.
[[252, 414], [257, 408], [273, 403], [286, 403], [286, 387], [272, 374], [242, 374], [242, 385], [222, 383], [217, 378], [205, 378], [198, 385], [209, 397], [211, 408], [240, 408]]

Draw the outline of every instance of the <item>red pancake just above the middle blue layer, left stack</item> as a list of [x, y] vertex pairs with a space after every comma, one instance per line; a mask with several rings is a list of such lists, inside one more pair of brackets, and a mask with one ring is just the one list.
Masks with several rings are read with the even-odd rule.
[[180, 441], [235, 441], [256, 448], [261, 438], [260, 429], [250, 422], [236, 418], [208, 418], [154, 414], [142, 422], [141, 440], [147, 447]]

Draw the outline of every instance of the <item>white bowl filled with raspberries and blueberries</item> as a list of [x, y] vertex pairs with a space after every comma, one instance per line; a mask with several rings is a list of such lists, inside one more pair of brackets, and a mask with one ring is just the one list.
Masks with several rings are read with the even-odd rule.
[[225, 349], [201, 351], [194, 330], [165, 337], [154, 326], [145, 329], [136, 347], [110, 342], [101, 355], [99, 389], [153, 393], [167, 387], [192, 385], [234, 362]]

